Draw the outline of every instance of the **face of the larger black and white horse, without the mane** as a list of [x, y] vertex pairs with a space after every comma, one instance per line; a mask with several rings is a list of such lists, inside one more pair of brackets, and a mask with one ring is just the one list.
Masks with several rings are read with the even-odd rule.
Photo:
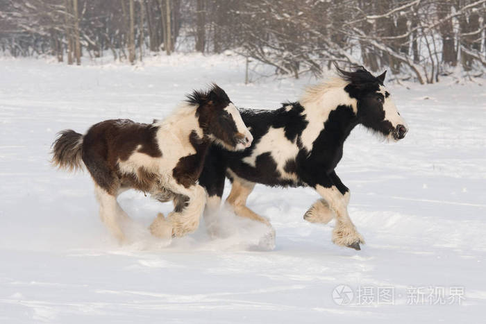
[[386, 71], [376, 78], [378, 82], [363, 87], [358, 97], [358, 115], [365, 127], [398, 141], [405, 137], [408, 128], [383, 85], [385, 74]]

